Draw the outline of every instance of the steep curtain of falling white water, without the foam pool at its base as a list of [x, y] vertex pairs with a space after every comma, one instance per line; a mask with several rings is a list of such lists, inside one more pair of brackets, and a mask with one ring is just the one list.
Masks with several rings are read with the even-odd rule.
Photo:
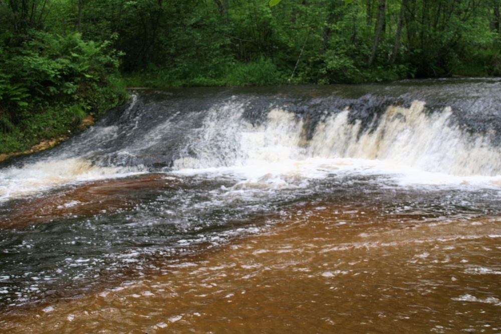
[[258, 125], [241, 117], [241, 106], [231, 107], [208, 112], [202, 128], [188, 136], [176, 169], [356, 158], [456, 176], [501, 173], [501, 150], [492, 143], [492, 133], [461, 129], [451, 107], [430, 113], [425, 102], [415, 100], [409, 107], [390, 105], [379, 117], [368, 116], [368, 122], [351, 120], [349, 108], [324, 113], [311, 139], [306, 138], [308, 120], [286, 108], [270, 109]]

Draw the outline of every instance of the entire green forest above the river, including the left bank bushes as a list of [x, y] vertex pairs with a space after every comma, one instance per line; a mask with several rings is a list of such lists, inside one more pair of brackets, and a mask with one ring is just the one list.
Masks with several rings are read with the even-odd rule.
[[[276, 1], [275, 1], [276, 2]], [[125, 87], [501, 75], [501, 0], [0, 0], [0, 153]]]

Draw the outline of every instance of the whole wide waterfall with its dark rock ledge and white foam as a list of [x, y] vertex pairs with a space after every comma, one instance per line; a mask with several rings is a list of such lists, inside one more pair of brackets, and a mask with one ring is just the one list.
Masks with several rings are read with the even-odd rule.
[[136, 173], [265, 175], [278, 164], [289, 173], [315, 159], [333, 169], [351, 159], [345, 169], [360, 170], [358, 159], [389, 173], [501, 175], [499, 81], [334, 88], [134, 92], [61, 146], [4, 163], [0, 199]]

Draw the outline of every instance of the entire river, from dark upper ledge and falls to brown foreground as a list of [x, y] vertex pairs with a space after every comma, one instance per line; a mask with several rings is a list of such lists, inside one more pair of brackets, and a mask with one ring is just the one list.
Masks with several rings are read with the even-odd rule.
[[132, 91], [0, 166], [0, 332], [501, 333], [501, 80]]

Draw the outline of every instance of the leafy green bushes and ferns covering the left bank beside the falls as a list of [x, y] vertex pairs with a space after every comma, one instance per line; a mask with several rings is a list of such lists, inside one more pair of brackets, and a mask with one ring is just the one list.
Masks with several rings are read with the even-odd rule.
[[42, 31], [24, 39], [4, 49], [0, 61], [0, 152], [65, 134], [88, 112], [125, 100], [124, 87], [112, 79], [119, 62], [110, 42]]

